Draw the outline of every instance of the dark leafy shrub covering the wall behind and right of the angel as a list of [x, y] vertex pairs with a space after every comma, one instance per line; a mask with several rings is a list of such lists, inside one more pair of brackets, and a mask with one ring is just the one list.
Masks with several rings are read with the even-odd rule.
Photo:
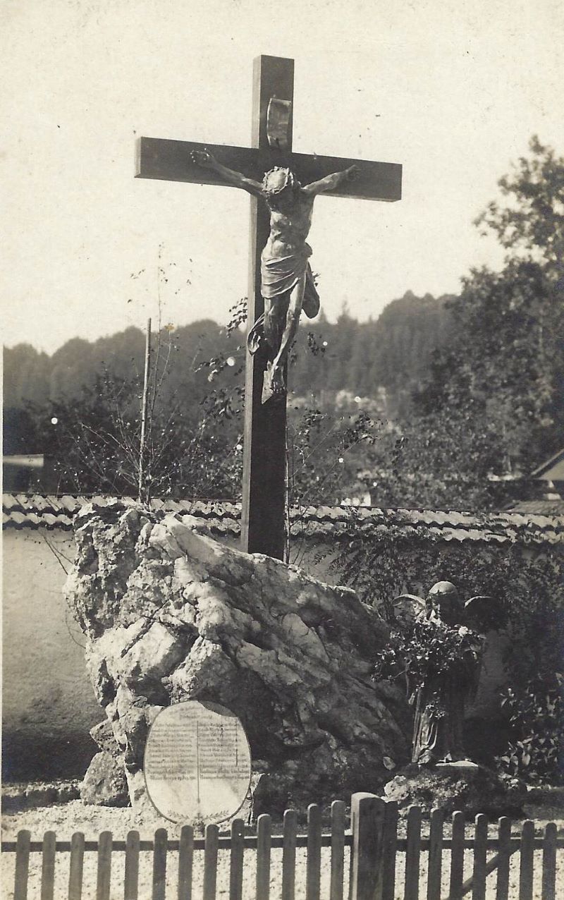
[[[487, 594], [506, 609], [505, 667], [510, 688], [500, 697], [500, 719], [511, 731], [499, 767], [532, 783], [561, 783], [564, 747], [561, 670], [564, 598], [559, 546], [534, 542], [529, 526], [515, 543], [445, 545], [424, 528], [388, 527], [372, 535], [354, 521], [334, 566], [340, 581], [393, 623], [391, 600], [408, 591], [425, 595], [435, 581], [452, 581], [468, 599]], [[560, 676], [559, 676], [560, 678]]]

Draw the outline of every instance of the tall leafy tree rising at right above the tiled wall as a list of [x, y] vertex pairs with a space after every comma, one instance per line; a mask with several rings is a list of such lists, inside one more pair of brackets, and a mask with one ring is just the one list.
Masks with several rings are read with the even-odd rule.
[[473, 270], [445, 304], [451, 339], [401, 422], [404, 478], [389, 480], [392, 505], [405, 497], [408, 473], [416, 505], [495, 507], [488, 476], [527, 473], [560, 446], [564, 158], [536, 138], [530, 148], [499, 183], [506, 202], [478, 220], [507, 248], [504, 269]]

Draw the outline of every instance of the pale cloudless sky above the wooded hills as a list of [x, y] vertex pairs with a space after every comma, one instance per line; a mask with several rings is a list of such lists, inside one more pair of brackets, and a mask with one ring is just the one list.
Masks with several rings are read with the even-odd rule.
[[248, 197], [136, 180], [134, 142], [247, 145], [261, 53], [295, 58], [296, 151], [404, 166], [400, 202], [316, 201], [329, 319], [499, 267], [472, 219], [533, 133], [564, 148], [560, 0], [3, 0], [0, 16], [7, 346], [142, 328], [161, 245], [165, 321], [227, 320]]

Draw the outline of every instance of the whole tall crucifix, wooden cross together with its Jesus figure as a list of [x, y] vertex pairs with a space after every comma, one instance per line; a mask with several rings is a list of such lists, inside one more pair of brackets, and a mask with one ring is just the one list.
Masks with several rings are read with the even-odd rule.
[[[316, 193], [363, 200], [401, 198], [397, 163], [293, 152], [293, 85], [293, 59], [256, 58], [251, 147], [139, 138], [136, 167], [138, 178], [243, 187], [251, 194], [241, 541], [247, 553], [278, 559], [284, 553], [286, 356], [297, 319], [288, 329], [284, 322], [287, 316], [290, 322], [292, 309], [297, 309], [299, 318], [302, 306], [306, 314], [314, 315], [318, 296], [305, 237], [296, 242], [290, 233], [290, 247], [282, 244], [282, 251], [269, 251], [264, 257], [264, 248], [267, 244], [272, 248], [279, 231], [275, 213], [280, 213], [279, 224], [283, 223], [288, 217], [282, 194], [289, 189], [301, 191], [303, 209], [294, 216], [294, 226], [299, 232], [300, 216], [309, 217], [307, 236]], [[288, 238], [288, 232], [282, 237]], [[270, 331], [276, 331], [268, 328], [273, 310], [279, 326], [278, 346], [271, 346], [269, 353]]]

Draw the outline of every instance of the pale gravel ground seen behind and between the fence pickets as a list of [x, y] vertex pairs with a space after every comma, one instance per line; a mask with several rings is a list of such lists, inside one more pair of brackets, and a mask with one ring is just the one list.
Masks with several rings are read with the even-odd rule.
[[[560, 815], [552, 815], [560, 813]], [[542, 815], [539, 815], [542, 814]], [[543, 826], [546, 821], [562, 820], [561, 810], [558, 809], [542, 809], [535, 807], [527, 809], [527, 815], [535, 818], [535, 824]], [[559, 822], [559, 833], [564, 833], [564, 821]], [[155, 829], [166, 828], [170, 839], [178, 837], [179, 826], [167, 822], [159, 817], [157, 813], [144, 813], [143, 815], [135, 815], [129, 808], [126, 809], [101, 809], [94, 806], [83, 806], [79, 800], [72, 801], [59, 806], [46, 806], [26, 810], [21, 813], [12, 815], [4, 815], [2, 823], [2, 837], [4, 841], [14, 840], [20, 829], [28, 829], [31, 832], [31, 838], [34, 841], [41, 840], [42, 835], [46, 831], [54, 831], [57, 833], [59, 841], [68, 841], [71, 834], [80, 831], [85, 833], [86, 840], [95, 840], [102, 831], [111, 831], [115, 840], [124, 840], [127, 833], [131, 829], [139, 831], [141, 839], [151, 839]], [[519, 824], [515, 824], [518, 831]], [[424, 828], [424, 833], [426, 829]], [[273, 826], [273, 833], [276, 832], [276, 826]], [[492, 835], [495, 833], [495, 826], [491, 828]], [[447, 829], [445, 828], [445, 836]], [[472, 834], [472, 826], [467, 830], [467, 836]], [[348, 895], [348, 867], [349, 856], [345, 851], [345, 893]], [[471, 852], [465, 855], [464, 877], [469, 878], [471, 875], [472, 858]], [[420, 879], [420, 896], [426, 896], [426, 857], [427, 854], [421, 854], [421, 879]], [[558, 885], [556, 896], [564, 896], [564, 851], [559, 851], [560, 872], [557, 874]], [[12, 900], [13, 898], [13, 869], [15, 854], [5, 853], [3, 859], [3, 900]], [[62, 900], [67, 896], [68, 882], [68, 853], [58, 854], [56, 868], [56, 886], [55, 900]], [[112, 900], [121, 900], [123, 896], [123, 853], [115, 853], [112, 857]], [[403, 900], [404, 897], [404, 878], [405, 878], [405, 854], [398, 853], [398, 861], [396, 867], [396, 891], [397, 900]], [[541, 877], [542, 877], [542, 852], [535, 853], [535, 876], [533, 886], [534, 900], [542, 900]], [[40, 900], [40, 853], [32, 853], [30, 859], [30, 878], [28, 900]], [[296, 852], [296, 900], [305, 900], [305, 870], [306, 870], [306, 851], [298, 850]], [[167, 858], [167, 878], [166, 878], [166, 898], [172, 900], [176, 897], [176, 871], [177, 871], [177, 854], [170, 852]], [[442, 895], [448, 894], [448, 880], [450, 872], [450, 854], [448, 851], [443, 853], [443, 888]], [[330, 873], [330, 851], [323, 849], [322, 851], [322, 877], [321, 877], [321, 898], [326, 900], [329, 890], [329, 873]], [[194, 852], [193, 860], [193, 900], [201, 900], [202, 896], [202, 876], [203, 876], [203, 853], [201, 851]], [[493, 873], [488, 878], [487, 898], [496, 896], [496, 874]], [[139, 857], [139, 900], [150, 900], [151, 898], [151, 879], [152, 879], [152, 854], [143, 852]], [[228, 897], [228, 879], [229, 879], [229, 853], [228, 851], [219, 851], [218, 859], [218, 878], [217, 878], [217, 897], [224, 900]], [[282, 883], [282, 851], [273, 850], [271, 857], [271, 900], [278, 900], [280, 897]], [[518, 854], [512, 858], [510, 869], [510, 897], [518, 897], [519, 883], [519, 861]], [[83, 896], [86, 898], [95, 897], [96, 886], [96, 854], [93, 852], [85, 852], [85, 868], [84, 868], [84, 891]], [[255, 851], [247, 850], [245, 852], [245, 869], [244, 869], [244, 891], [243, 896], [251, 900], [255, 897]], [[439, 898], [437, 898], [439, 900]]]

